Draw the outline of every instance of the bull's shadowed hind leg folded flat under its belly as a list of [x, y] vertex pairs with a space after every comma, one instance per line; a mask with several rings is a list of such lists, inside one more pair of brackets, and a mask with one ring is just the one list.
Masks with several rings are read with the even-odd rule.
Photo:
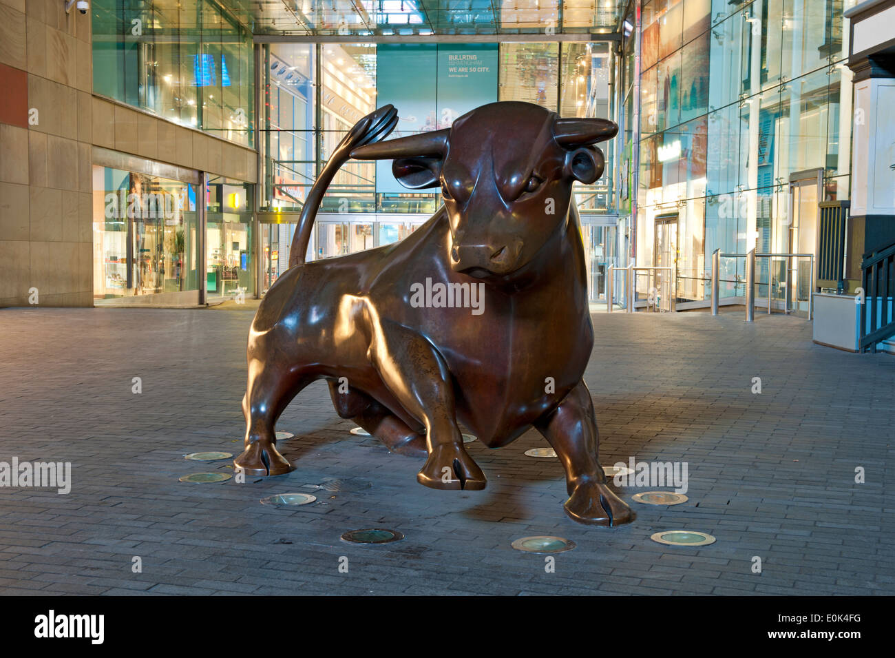
[[333, 398], [336, 413], [342, 418], [353, 420], [391, 452], [407, 457], [426, 457], [424, 435], [413, 432], [400, 418], [362, 391], [348, 387], [345, 392], [340, 392], [339, 388], [337, 381], [329, 380], [329, 395]]

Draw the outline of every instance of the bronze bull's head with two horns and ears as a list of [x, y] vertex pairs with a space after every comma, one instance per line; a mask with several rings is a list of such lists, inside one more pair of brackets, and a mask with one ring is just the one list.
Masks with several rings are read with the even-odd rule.
[[441, 186], [450, 221], [450, 264], [473, 277], [506, 277], [532, 261], [567, 221], [572, 184], [603, 173], [601, 150], [618, 126], [562, 119], [531, 103], [474, 109], [450, 128], [354, 149], [352, 158], [393, 159], [412, 190]]

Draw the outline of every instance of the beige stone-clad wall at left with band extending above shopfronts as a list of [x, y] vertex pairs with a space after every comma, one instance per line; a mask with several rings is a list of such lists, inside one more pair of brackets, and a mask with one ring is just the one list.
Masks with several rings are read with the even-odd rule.
[[256, 181], [254, 150], [92, 88], [90, 14], [0, 0], [0, 307], [93, 305], [94, 145]]

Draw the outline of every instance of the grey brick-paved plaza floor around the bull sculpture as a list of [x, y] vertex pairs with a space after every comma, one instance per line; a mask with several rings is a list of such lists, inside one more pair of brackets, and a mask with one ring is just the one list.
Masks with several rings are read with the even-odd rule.
[[[66, 495], [0, 488], [0, 594], [895, 594], [890, 355], [816, 346], [796, 318], [593, 315], [601, 463], [689, 475], [686, 503], [631, 502], [633, 523], [602, 528], [565, 516], [558, 460], [524, 456], [546, 445], [536, 432], [469, 445], [486, 490], [432, 491], [415, 481], [421, 460], [350, 434], [323, 382], [277, 428], [295, 434], [278, 446], [294, 472], [178, 482], [233, 473], [183, 455], [241, 452], [251, 317], [0, 310], [0, 461], [72, 468]], [[318, 502], [260, 504], [289, 491]], [[339, 540], [369, 527], [405, 539]], [[671, 529], [717, 542], [651, 541]], [[535, 534], [576, 548], [550, 571], [510, 547]]]

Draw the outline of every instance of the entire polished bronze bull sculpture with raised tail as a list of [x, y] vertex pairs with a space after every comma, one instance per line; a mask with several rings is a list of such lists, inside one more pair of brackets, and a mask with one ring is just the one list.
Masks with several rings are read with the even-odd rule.
[[[396, 453], [427, 457], [417, 474], [427, 487], [485, 487], [457, 419], [489, 448], [534, 427], [565, 467], [568, 516], [629, 522], [597, 460], [582, 379], [593, 329], [570, 204], [574, 181], [602, 174], [593, 144], [618, 126], [500, 102], [444, 130], [381, 141], [396, 120], [386, 106], [355, 124], [308, 195], [293, 267], [251, 325], [245, 450], [234, 466], [253, 475], [292, 470], [277, 452], [275, 423], [323, 378], [337, 414]], [[349, 158], [392, 159], [402, 184], [440, 186], [444, 205], [400, 242], [304, 263], [323, 194]]]

